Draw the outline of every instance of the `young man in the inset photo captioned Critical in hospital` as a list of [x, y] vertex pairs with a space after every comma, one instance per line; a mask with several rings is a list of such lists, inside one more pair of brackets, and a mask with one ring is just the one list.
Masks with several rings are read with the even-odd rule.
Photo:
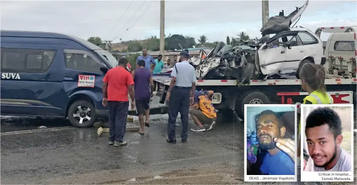
[[351, 155], [341, 148], [341, 118], [334, 110], [313, 110], [306, 118], [305, 134], [315, 172], [352, 172]]

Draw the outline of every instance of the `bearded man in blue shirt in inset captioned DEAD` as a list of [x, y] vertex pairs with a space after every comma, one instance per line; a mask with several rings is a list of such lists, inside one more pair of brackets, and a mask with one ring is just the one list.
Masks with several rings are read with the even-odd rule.
[[255, 123], [259, 148], [268, 151], [261, 175], [295, 175], [295, 142], [284, 138], [286, 128], [279, 116], [266, 110], [256, 116]]

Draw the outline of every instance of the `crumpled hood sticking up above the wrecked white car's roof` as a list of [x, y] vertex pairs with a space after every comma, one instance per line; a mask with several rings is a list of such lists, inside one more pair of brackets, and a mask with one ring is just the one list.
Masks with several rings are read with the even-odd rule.
[[272, 16], [260, 29], [263, 36], [268, 34], [277, 34], [282, 31], [288, 31], [290, 25], [294, 22], [293, 26], [300, 19], [301, 14], [305, 11], [309, 1], [306, 0], [304, 5], [296, 7], [295, 11], [291, 12], [288, 16], [284, 16], [284, 12], [280, 12], [279, 15]]

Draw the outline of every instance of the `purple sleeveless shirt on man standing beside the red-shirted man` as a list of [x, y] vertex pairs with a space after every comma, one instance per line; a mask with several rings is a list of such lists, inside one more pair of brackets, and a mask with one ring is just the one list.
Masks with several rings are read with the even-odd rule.
[[150, 91], [150, 71], [145, 68], [135, 69], [134, 76], [134, 97], [135, 100], [149, 100]]

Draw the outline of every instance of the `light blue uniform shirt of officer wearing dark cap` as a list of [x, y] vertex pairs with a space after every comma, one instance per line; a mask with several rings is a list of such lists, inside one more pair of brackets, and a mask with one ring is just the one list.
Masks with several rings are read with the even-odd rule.
[[176, 77], [176, 86], [192, 87], [192, 83], [197, 81], [195, 68], [187, 60], [177, 62], [175, 66], [172, 69], [171, 76]]

